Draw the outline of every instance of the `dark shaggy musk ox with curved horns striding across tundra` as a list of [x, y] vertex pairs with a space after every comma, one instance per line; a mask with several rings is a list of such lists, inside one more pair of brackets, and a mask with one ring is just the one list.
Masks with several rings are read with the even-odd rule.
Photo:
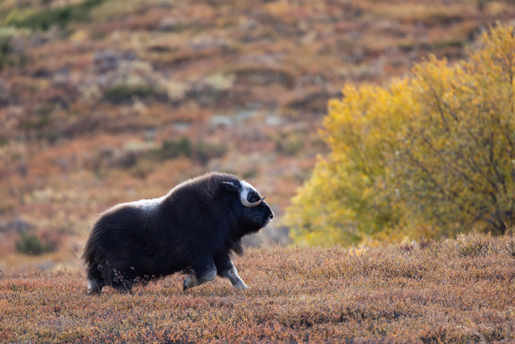
[[94, 223], [82, 253], [88, 289], [130, 291], [135, 282], [187, 274], [183, 290], [218, 274], [247, 289], [231, 255], [242, 237], [270, 223], [273, 212], [258, 190], [232, 174], [208, 173], [152, 200], [118, 204]]

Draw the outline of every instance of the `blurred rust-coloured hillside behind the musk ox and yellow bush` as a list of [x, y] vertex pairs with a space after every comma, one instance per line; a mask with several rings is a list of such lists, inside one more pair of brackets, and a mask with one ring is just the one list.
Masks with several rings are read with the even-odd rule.
[[0, 266], [76, 265], [99, 211], [214, 170], [278, 215], [246, 243], [288, 244], [328, 101], [513, 18], [486, 0], [2, 0]]

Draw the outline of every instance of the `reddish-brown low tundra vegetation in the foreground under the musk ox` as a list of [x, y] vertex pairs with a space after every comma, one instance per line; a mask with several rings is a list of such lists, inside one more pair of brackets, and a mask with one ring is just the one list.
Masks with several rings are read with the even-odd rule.
[[249, 289], [173, 275], [86, 292], [80, 271], [0, 272], [0, 338], [52, 342], [510, 342], [515, 239], [249, 249]]

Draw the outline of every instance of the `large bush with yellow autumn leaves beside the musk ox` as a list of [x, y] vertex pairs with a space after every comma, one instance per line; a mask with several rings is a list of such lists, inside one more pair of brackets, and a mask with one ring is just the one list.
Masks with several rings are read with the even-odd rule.
[[329, 103], [331, 148], [286, 223], [299, 242], [505, 233], [515, 220], [515, 38], [497, 25], [467, 60], [430, 57]]

